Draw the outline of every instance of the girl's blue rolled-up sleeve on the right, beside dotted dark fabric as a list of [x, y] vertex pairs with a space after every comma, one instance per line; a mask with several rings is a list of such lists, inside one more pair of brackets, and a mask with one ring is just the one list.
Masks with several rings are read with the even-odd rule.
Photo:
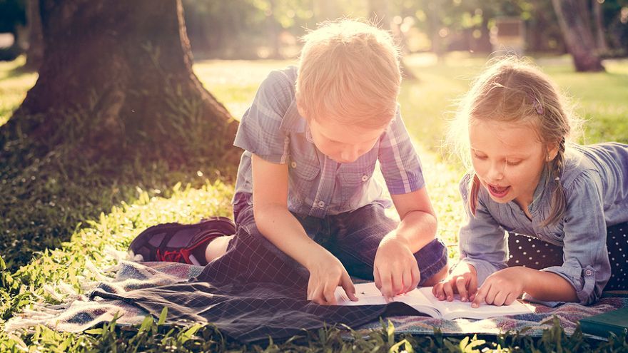
[[564, 262], [542, 271], [569, 281], [579, 302], [589, 305], [602, 295], [611, 275], [599, 175], [585, 170], [566, 188], [565, 196]]

